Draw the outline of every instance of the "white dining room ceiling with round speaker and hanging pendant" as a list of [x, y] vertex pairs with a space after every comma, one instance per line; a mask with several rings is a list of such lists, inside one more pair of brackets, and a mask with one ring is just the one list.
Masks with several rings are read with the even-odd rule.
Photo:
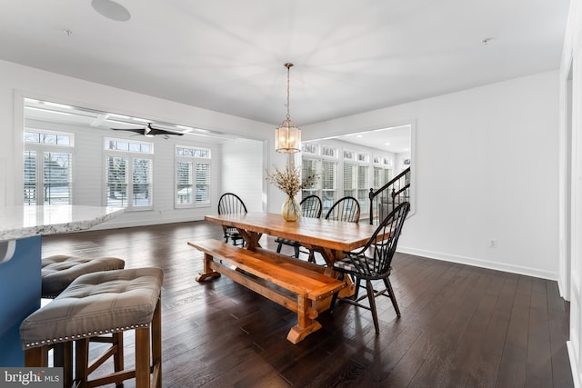
[[275, 125], [292, 62], [301, 126], [557, 69], [569, 4], [117, 2], [129, 20], [90, 0], [0, 0], [0, 59]]

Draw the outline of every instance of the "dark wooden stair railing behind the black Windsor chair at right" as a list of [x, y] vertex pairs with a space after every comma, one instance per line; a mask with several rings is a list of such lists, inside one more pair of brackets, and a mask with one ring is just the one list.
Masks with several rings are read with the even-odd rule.
[[[382, 221], [392, 209], [404, 201], [410, 201], [410, 167], [397, 174], [376, 191], [370, 188], [370, 224]], [[376, 208], [376, 212], [374, 209]]]

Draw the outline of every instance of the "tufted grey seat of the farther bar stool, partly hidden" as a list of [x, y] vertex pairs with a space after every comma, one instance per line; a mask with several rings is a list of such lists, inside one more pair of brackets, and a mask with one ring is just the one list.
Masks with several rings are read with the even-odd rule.
[[88, 259], [67, 254], [45, 257], [41, 262], [42, 297], [54, 299], [82, 274], [122, 270], [125, 262], [116, 257]]

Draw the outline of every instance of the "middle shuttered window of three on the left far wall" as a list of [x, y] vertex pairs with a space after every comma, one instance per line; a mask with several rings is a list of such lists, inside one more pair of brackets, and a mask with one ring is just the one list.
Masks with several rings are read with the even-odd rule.
[[150, 210], [154, 193], [154, 145], [105, 139], [105, 204]]

